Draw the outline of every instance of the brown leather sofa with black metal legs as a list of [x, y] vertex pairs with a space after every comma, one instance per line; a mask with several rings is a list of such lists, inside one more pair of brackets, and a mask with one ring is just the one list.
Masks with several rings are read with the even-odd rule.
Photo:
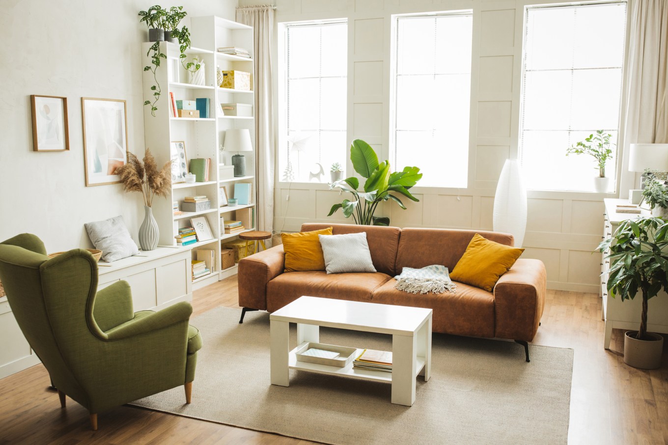
[[512, 339], [528, 346], [538, 330], [545, 302], [546, 273], [542, 261], [518, 259], [496, 283], [493, 292], [457, 283], [454, 293], [417, 294], [394, 288], [403, 267], [445, 265], [450, 271], [464, 255], [476, 233], [504, 245], [513, 245], [507, 233], [450, 229], [309, 223], [301, 231], [333, 227], [333, 234], [367, 233], [376, 273], [325, 271], [283, 273], [285, 254], [279, 245], [239, 261], [239, 305], [248, 310], [276, 311], [302, 295], [369, 301], [390, 305], [427, 307], [434, 311], [434, 332], [473, 337]]

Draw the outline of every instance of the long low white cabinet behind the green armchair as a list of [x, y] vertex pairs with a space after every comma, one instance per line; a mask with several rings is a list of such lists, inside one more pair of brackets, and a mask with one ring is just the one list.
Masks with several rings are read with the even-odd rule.
[[[132, 288], [134, 311], [159, 310], [192, 301], [190, 249], [158, 247], [114, 263], [98, 263], [98, 289], [125, 280]], [[0, 378], [39, 363], [23, 337], [7, 297], [0, 298]]]

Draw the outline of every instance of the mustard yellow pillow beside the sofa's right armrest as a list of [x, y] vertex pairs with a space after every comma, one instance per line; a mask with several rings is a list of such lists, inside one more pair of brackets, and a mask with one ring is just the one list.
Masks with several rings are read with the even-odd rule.
[[498, 279], [515, 264], [522, 252], [524, 249], [494, 243], [476, 233], [450, 278], [492, 292]]

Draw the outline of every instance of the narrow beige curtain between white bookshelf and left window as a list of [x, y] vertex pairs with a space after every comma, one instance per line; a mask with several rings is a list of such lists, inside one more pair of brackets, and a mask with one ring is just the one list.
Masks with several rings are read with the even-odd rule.
[[271, 232], [274, 219], [273, 61], [274, 7], [236, 9], [236, 21], [254, 29], [255, 165], [257, 166], [257, 230]]

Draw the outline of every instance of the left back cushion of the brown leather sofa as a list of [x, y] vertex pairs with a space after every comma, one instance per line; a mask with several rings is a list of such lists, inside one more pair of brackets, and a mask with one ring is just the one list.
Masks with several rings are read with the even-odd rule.
[[[331, 227], [333, 235], [366, 232], [373, 267], [379, 272], [387, 273], [387, 275], [397, 275], [397, 273], [401, 272], [395, 271], [394, 268], [394, 261], [397, 258], [397, 247], [399, 247], [399, 235], [401, 234], [401, 229], [398, 227], [305, 223], [301, 226], [301, 230], [315, 231], [324, 229], [325, 227]], [[466, 246], [464, 249], [466, 249]], [[462, 253], [464, 249], [462, 249]]]

